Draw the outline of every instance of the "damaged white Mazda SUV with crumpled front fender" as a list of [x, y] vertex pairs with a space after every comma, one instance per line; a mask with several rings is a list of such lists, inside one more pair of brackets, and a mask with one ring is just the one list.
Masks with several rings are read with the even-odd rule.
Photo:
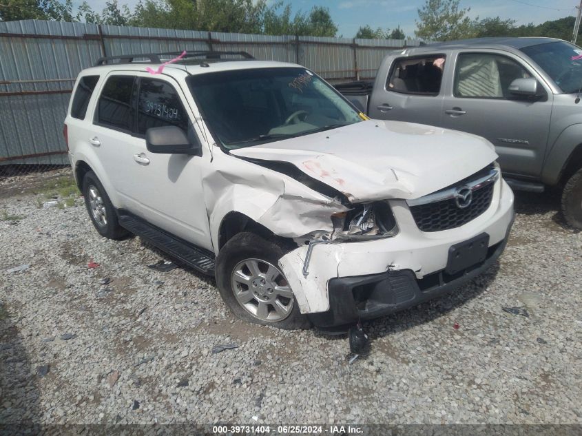
[[70, 161], [101, 235], [216, 275], [240, 318], [341, 330], [503, 251], [513, 194], [484, 138], [368, 120], [300, 65], [191, 52], [160, 67], [172, 56], [81, 72]]

